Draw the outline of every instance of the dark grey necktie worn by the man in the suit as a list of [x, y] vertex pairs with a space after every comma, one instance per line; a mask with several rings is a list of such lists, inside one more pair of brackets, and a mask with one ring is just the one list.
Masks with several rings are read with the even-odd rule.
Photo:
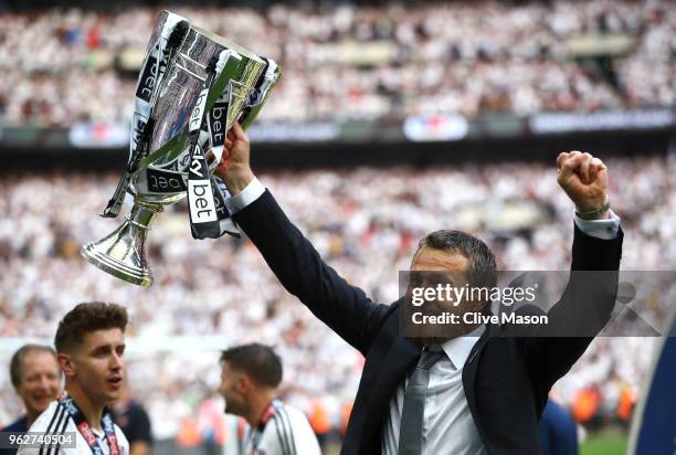
[[422, 453], [422, 424], [425, 413], [425, 395], [430, 383], [430, 368], [445, 357], [443, 351], [425, 349], [420, 356], [415, 371], [409, 379], [399, 427], [399, 455], [420, 455]]

